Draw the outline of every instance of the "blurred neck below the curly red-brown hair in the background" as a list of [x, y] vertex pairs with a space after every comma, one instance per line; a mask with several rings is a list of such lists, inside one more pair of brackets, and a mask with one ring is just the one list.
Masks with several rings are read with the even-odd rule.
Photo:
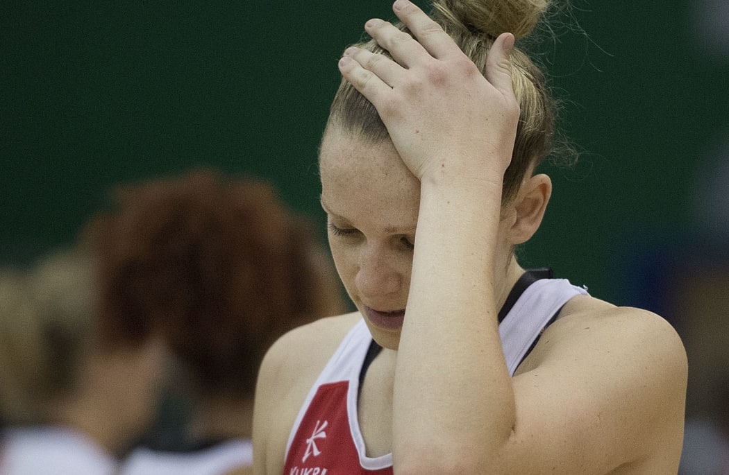
[[192, 417], [195, 439], [250, 439], [252, 426], [252, 396], [206, 396], [195, 404]]

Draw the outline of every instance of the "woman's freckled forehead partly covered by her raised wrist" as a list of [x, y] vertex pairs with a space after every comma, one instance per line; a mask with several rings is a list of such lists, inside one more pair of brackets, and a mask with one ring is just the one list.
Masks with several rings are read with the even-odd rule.
[[398, 225], [417, 220], [420, 182], [390, 141], [373, 144], [330, 130], [321, 141], [319, 173], [321, 201], [332, 213], [376, 214]]

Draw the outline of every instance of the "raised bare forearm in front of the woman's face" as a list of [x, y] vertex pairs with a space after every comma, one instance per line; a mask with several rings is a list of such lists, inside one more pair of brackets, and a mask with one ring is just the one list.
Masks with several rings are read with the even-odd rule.
[[421, 458], [431, 446], [451, 454], [477, 447], [488, 458], [514, 424], [494, 288], [500, 189], [450, 178], [422, 184], [397, 356], [396, 468], [398, 458]]

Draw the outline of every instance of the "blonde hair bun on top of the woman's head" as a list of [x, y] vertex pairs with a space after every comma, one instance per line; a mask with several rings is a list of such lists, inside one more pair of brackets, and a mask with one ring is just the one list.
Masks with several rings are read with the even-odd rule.
[[548, 0], [433, 0], [434, 12], [446, 20], [494, 38], [505, 32], [528, 35], [548, 5]]

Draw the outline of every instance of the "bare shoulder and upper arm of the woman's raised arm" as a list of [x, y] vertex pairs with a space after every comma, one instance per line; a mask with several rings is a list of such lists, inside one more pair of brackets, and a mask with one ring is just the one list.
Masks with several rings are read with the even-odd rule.
[[504, 450], [519, 473], [606, 474], [682, 443], [687, 364], [674, 329], [637, 309], [572, 318], [547, 331], [513, 378], [517, 419]]

